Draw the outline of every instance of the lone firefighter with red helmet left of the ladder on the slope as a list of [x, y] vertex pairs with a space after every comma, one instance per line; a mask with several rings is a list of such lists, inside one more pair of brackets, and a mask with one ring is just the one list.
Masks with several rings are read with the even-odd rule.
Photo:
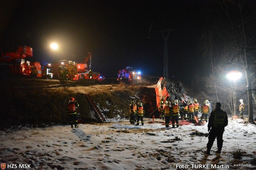
[[70, 100], [67, 104], [67, 113], [69, 115], [69, 121], [71, 128], [73, 128], [73, 124], [75, 125], [75, 128], [78, 128], [77, 126], [77, 114], [76, 109], [79, 107], [79, 104], [75, 101], [75, 98], [70, 97]]

